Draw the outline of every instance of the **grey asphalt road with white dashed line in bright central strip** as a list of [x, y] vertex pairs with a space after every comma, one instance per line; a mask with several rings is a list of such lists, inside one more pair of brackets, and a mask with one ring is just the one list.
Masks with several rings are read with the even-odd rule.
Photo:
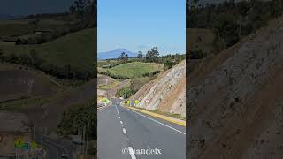
[[186, 127], [127, 110], [118, 102], [98, 110], [97, 123], [98, 159], [186, 158]]

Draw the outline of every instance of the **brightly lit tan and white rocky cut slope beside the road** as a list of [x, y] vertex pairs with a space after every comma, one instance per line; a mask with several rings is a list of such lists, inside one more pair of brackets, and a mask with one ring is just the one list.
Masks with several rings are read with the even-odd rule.
[[185, 61], [143, 86], [131, 100], [140, 100], [138, 107], [186, 116]]

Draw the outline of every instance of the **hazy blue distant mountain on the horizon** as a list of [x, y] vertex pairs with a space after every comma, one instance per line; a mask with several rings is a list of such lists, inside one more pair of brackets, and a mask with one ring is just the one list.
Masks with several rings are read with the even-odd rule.
[[122, 52], [125, 52], [128, 57], [137, 57], [137, 53], [128, 51], [126, 49], [115, 49], [107, 52], [99, 52], [97, 57], [98, 59], [110, 59], [110, 58], [119, 58]]

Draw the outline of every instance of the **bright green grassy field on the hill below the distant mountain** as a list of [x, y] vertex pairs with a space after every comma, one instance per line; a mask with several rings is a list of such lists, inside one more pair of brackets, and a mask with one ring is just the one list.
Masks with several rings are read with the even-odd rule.
[[110, 69], [99, 68], [98, 71], [106, 72], [109, 71], [112, 76], [123, 76], [127, 79], [141, 78], [142, 74], [147, 72], [162, 71], [164, 65], [156, 63], [142, 63], [142, 62], [132, 62], [126, 64], [119, 64]]

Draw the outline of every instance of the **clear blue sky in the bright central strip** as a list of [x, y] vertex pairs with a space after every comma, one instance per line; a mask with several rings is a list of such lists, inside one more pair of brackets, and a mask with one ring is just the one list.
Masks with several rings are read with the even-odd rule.
[[98, 52], [185, 53], [186, 0], [98, 0]]

